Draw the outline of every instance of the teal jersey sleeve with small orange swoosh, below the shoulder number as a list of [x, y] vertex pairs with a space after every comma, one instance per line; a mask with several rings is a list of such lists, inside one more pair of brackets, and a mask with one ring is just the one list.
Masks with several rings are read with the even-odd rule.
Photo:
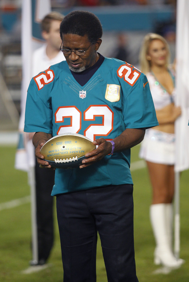
[[145, 75], [142, 74], [137, 83], [132, 86], [131, 91], [126, 94], [122, 113], [126, 128], [150, 128], [159, 125], [149, 83]]

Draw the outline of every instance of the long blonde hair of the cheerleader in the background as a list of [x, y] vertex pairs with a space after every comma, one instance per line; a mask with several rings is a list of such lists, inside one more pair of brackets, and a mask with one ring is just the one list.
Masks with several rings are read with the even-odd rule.
[[143, 42], [140, 48], [140, 54], [139, 54], [140, 69], [144, 74], [147, 74], [147, 72], [150, 71], [151, 66], [150, 66], [150, 61], [147, 60], [147, 55], [149, 52], [149, 45], [155, 39], [159, 39], [165, 44], [165, 47], [168, 53], [167, 58], [166, 58], [166, 65], [169, 64], [170, 50], [169, 50], [169, 45], [167, 41], [165, 40], [165, 38], [163, 38], [161, 35], [156, 34], [156, 33], [148, 33], [143, 39]]

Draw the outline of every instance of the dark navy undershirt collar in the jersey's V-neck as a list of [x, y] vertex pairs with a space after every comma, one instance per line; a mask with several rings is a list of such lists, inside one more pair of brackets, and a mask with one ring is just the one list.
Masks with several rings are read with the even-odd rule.
[[81, 85], [84, 86], [89, 79], [91, 79], [91, 77], [93, 76], [93, 74], [99, 69], [99, 67], [102, 65], [102, 63], [104, 62], [104, 56], [102, 56], [100, 53], [98, 53], [98, 55], [100, 56], [100, 58], [98, 59], [98, 61], [89, 69], [86, 69], [82, 72], [73, 72], [72, 70], [71, 73], [73, 75], [73, 77], [75, 78], [75, 80]]

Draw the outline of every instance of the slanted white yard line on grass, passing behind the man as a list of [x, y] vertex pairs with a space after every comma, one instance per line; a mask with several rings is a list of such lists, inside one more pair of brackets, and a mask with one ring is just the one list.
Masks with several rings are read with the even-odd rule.
[[[145, 166], [146, 166], [145, 161], [139, 160], [137, 162], [132, 162], [130, 169], [131, 169], [131, 171], [134, 171], [134, 170], [137, 170], [137, 169], [145, 168]], [[15, 207], [21, 206], [23, 204], [29, 203], [30, 201], [31, 201], [31, 197], [25, 196], [25, 197], [15, 199], [15, 200], [12, 200], [12, 201], [9, 201], [9, 202], [0, 203], [0, 211], [15, 208]]]

